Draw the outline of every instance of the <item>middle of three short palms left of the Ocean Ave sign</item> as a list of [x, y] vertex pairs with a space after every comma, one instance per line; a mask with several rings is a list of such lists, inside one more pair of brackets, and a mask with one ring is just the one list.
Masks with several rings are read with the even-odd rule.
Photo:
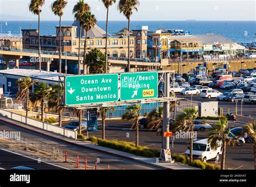
[[49, 87], [46, 82], [37, 83], [36, 86], [30, 100], [34, 105], [36, 105], [37, 102], [41, 103], [41, 121], [44, 121], [44, 104], [50, 95], [51, 87]]

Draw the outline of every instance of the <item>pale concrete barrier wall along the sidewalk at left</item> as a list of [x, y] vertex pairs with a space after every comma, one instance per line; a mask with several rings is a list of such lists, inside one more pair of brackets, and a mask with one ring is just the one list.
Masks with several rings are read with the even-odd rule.
[[77, 132], [73, 130], [69, 130], [67, 128], [59, 127], [56, 125], [48, 124], [42, 121], [38, 121], [36, 119], [26, 118], [25, 116], [22, 116], [20, 114], [10, 112], [7, 110], [0, 109], [0, 116], [3, 116], [5, 118], [13, 119], [16, 121], [19, 121], [21, 123], [31, 125], [37, 128], [41, 128], [45, 131], [50, 131], [56, 134], [60, 134], [63, 136], [66, 136], [68, 138], [77, 139]]

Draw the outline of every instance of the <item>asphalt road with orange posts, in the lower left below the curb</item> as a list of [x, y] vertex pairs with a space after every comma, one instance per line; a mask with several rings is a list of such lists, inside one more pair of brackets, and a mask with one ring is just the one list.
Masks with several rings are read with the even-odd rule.
[[[143, 164], [140, 162], [116, 157], [116, 156], [109, 155], [106, 153], [101, 153], [101, 152], [97, 152], [94, 150], [76, 147], [76, 146], [70, 145], [68, 143], [65, 143], [63, 141], [49, 138], [48, 136], [44, 136], [42, 134], [39, 134], [39, 133], [36, 133], [33, 131], [24, 130], [23, 128], [19, 128], [19, 127], [11, 125], [9, 123], [3, 123], [3, 121], [0, 121], [0, 131], [3, 131], [3, 130], [5, 130], [5, 131], [21, 131], [21, 136], [23, 139], [27, 138], [29, 140], [39, 141], [41, 143], [47, 143], [49, 146], [56, 146], [59, 149], [62, 149], [63, 152], [65, 152], [65, 150], [66, 150], [68, 152], [69, 163], [65, 163], [65, 164], [63, 163], [64, 157], [62, 158], [61, 161], [51, 160], [51, 163], [56, 164], [58, 166], [63, 166], [68, 169], [77, 169], [76, 168], [76, 156], [77, 155], [79, 155], [79, 158], [80, 158], [79, 159], [80, 166], [84, 166], [85, 157], [87, 158], [87, 166], [89, 169], [94, 169], [95, 162], [97, 159], [99, 159], [99, 161], [100, 161], [100, 163], [97, 164], [98, 169], [107, 169], [107, 164], [110, 164], [110, 169], [119, 169], [119, 170], [123, 170], [123, 169], [147, 169], [147, 170], [160, 169], [158, 167], [153, 167], [153, 166], [150, 166], [147, 164]], [[14, 149], [14, 151], [16, 151], [15, 148], [12, 148], [12, 149]], [[41, 161], [45, 161], [44, 156], [42, 156], [42, 157], [34, 156], [34, 157], [36, 157], [37, 159], [40, 158]], [[2, 162], [2, 161], [0, 160], [0, 162]], [[10, 162], [14, 162], [14, 164], [12, 166], [17, 166], [17, 165], [19, 166], [22, 164], [22, 162], [16, 162], [15, 159], [12, 159]], [[37, 166], [35, 168], [37, 168]], [[84, 167], [79, 167], [78, 169], [83, 169], [83, 168]]]

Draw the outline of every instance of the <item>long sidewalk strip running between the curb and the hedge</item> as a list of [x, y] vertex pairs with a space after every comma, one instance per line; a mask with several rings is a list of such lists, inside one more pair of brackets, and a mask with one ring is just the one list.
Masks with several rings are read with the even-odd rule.
[[48, 131], [45, 131], [45, 130], [42, 130], [42, 129], [39, 129], [36, 127], [32, 127], [32, 126], [20, 123], [15, 120], [4, 118], [4, 117], [0, 117], [0, 120], [4, 121], [5, 123], [9, 123], [10, 125], [14, 125], [17, 127], [24, 128], [26, 130], [34, 131], [34, 132], [40, 133], [42, 135], [48, 136], [49, 138], [57, 139], [59, 141], [66, 142], [66, 143], [69, 143], [74, 146], [79, 146], [79, 147], [83, 147], [85, 149], [95, 150], [95, 151], [110, 154], [113, 156], [123, 157], [124, 159], [129, 159], [129, 160], [137, 161], [140, 163], [149, 164], [151, 166], [159, 167], [161, 169], [199, 169], [199, 168], [194, 168], [194, 167], [190, 167], [190, 166], [185, 166], [184, 164], [181, 164], [181, 163], [168, 163], [168, 162], [160, 162], [160, 161], [159, 161], [159, 163], [156, 163], [156, 158], [146, 158], [146, 157], [142, 157], [142, 156], [136, 156], [136, 155], [133, 155], [130, 153], [121, 152], [119, 150], [114, 150], [114, 149], [110, 149], [107, 147], [97, 146], [94, 143], [91, 143], [90, 141], [73, 140], [73, 139], [67, 138], [65, 136], [55, 134], [52, 132], [48, 132]]

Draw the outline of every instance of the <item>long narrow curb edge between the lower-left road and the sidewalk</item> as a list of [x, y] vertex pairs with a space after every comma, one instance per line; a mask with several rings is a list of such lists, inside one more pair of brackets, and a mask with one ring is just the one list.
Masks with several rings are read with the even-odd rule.
[[[163, 167], [163, 166], [157, 166], [157, 165], [152, 164], [152, 163], [149, 163], [149, 162], [145, 162], [145, 161], [133, 159], [133, 158], [128, 157], [128, 156], [118, 155], [118, 154], [116, 154], [116, 153], [106, 152], [105, 150], [100, 150], [100, 149], [96, 149], [96, 148], [92, 148], [92, 147], [87, 147], [87, 146], [78, 145], [78, 144], [76, 144], [76, 143], [72, 143], [72, 142], [69, 142], [69, 141], [66, 141], [66, 140], [58, 139], [58, 138], [56, 138], [56, 137], [54, 137], [54, 136], [51, 136], [51, 135], [48, 135], [48, 134], [44, 134], [44, 133], [41, 133], [41, 132], [33, 131], [33, 130], [31, 130], [31, 129], [29, 129], [29, 128], [26, 128], [26, 127], [21, 127], [21, 126], [19, 126], [19, 125], [10, 123], [9, 121], [5, 121], [4, 119], [0, 119], [0, 121], [4, 121], [5, 123], [11, 124], [11, 125], [13, 125], [13, 126], [17, 126], [17, 127], [19, 127], [19, 128], [24, 128], [25, 130], [28, 130], [28, 131], [32, 131], [32, 132], [36, 132], [36, 133], [38, 133], [38, 134], [42, 134], [42, 135], [44, 135], [44, 136], [48, 136], [49, 138], [52, 138], [52, 139], [56, 139], [56, 140], [58, 140], [58, 141], [65, 142], [65, 143], [68, 143], [68, 144], [73, 145], [73, 146], [82, 147], [82, 148], [94, 150], [94, 151], [97, 151], [97, 152], [101, 152], [101, 153], [106, 153], [106, 154], [113, 155], [113, 156], [122, 157], [122, 158], [127, 159], [127, 160], [132, 160], [132, 161], [144, 163], [144, 164], [147, 164], [147, 165], [150, 165], [150, 166], [154, 166], [154, 167], [158, 167], [158, 168], [162, 168], [162, 169], [171, 169], [171, 168], [166, 168], [166, 167]], [[24, 125], [26, 125], [26, 124], [24, 124]], [[37, 127], [35, 127], [35, 128], [37, 128]], [[41, 128], [40, 128], [40, 130], [41, 130]], [[51, 132], [50, 132], [50, 133], [51, 133]], [[110, 149], [110, 148], [109, 148], [109, 149]], [[115, 149], [113, 149], [113, 150], [115, 150]], [[171, 170], [173, 170], [173, 169], [171, 169]]]

